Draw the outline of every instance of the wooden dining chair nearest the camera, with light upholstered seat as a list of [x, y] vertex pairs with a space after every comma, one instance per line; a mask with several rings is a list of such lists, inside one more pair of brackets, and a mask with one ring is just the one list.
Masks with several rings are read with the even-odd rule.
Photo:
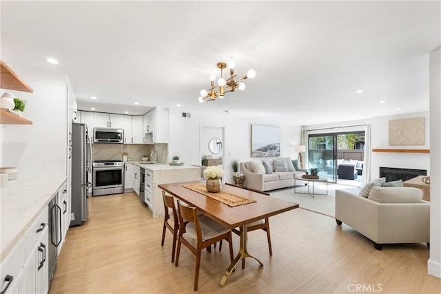
[[[178, 200], [179, 235], [176, 248], [175, 266], [179, 263], [181, 244], [196, 255], [196, 269], [194, 271], [194, 291], [198, 290], [199, 267], [201, 264], [201, 251], [212, 244], [227, 240], [229, 243], [229, 258], [233, 262], [232, 230], [212, 220], [207, 216], [199, 217], [196, 207], [189, 207]], [[192, 240], [196, 241], [196, 247]]]

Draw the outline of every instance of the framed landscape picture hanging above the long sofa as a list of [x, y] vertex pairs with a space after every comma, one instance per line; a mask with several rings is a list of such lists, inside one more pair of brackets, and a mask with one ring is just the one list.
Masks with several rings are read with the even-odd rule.
[[251, 156], [280, 156], [280, 127], [251, 125]]

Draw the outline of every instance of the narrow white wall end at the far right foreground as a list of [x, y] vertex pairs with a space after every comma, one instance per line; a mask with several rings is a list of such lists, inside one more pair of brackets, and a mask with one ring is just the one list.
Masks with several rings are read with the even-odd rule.
[[441, 277], [441, 50], [430, 53], [430, 258], [428, 273]]

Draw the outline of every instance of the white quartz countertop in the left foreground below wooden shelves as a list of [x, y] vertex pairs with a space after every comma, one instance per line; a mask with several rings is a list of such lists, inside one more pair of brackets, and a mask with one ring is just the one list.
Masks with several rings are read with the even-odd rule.
[[65, 180], [66, 177], [19, 179], [0, 188], [0, 261], [57, 196]]

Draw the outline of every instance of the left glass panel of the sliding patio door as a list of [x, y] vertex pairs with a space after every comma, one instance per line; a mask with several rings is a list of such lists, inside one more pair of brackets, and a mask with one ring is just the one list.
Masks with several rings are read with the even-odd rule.
[[336, 182], [336, 140], [333, 134], [309, 135], [308, 160], [309, 168], [317, 167], [320, 177]]

